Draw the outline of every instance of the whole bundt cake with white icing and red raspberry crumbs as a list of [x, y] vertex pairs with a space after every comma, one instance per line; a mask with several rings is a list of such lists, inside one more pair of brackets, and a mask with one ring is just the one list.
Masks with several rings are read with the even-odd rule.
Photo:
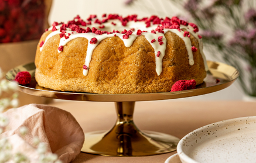
[[36, 51], [36, 81], [57, 91], [168, 92], [179, 80], [201, 84], [207, 64], [198, 27], [177, 17], [79, 16], [54, 22]]

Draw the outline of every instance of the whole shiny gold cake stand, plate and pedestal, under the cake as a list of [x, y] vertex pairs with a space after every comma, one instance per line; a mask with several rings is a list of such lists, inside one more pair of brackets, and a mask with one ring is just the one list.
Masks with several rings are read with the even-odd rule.
[[197, 85], [196, 89], [178, 92], [106, 95], [54, 91], [37, 85], [34, 63], [13, 68], [6, 74], [6, 79], [11, 81], [19, 71], [28, 71], [32, 75], [32, 82], [29, 85], [19, 85], [19, 91], [30, 95], [66, 100], [115, 102], [117, 122], [114, 127], [108, 131], [85, 133], [81, 151], [98, 155], [132, 157], [175, 151], [179, 142], [179, 138], [169, 134], [139, 130], [133, 121], [136, 101], [186, 98], [220, 91], [230, 86], [239, 75], [239, 72], [230, 65], [213, 61], [207, 61], [207, 64], [209, 71], [203, 84]]

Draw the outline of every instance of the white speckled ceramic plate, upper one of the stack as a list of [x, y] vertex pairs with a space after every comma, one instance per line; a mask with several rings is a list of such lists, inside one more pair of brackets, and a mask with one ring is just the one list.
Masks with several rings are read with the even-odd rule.
[[179, 141], [177, 152], [183, 163], [256, 162], [256, 116], [194, 130]]

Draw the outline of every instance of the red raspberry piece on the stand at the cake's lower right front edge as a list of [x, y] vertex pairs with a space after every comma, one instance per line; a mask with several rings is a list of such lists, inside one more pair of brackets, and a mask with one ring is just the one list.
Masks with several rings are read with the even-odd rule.
[[183, 91], [183, 90], [189, 90], [189, 89], [195, 89], [195, 88], [196, 88], [196, 81], [194, 79], [180, 80], [175, 82], [175, 84], [172, 85], [171, 92]]

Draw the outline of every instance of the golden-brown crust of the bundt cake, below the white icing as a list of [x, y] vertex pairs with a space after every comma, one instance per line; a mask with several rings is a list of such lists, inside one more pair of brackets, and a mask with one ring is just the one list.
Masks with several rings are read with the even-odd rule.
[[[45, 32], [40, 41], [52, 31]], [[163, 69], [156, 74], [155, 52], [145, 36], [136, 37], [125, 47], [119, 37], [102, 40], [93, 51], [88, 75], [83, 75], [88, 40], [78, 37], [69, 41], [58, 53], [59, 34], [51, 37], [36, 51], [36, 81], [40, 86], [57, 91], [91, 93], [168, 92], [178, 80], [194, 79], [201, 84], [206, 77], [199, 43], [192, 35], [194, 65], [189, 65], [184, 41], [175, 33], [165, 33], [167, 40]]]

